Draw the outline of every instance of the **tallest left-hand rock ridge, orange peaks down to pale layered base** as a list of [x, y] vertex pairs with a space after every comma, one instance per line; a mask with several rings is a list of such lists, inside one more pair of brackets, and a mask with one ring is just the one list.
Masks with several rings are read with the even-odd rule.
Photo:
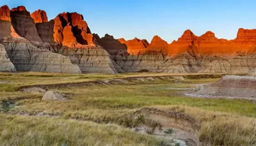
[[45, 11], [30, 15], [24, 6], [12, 10], [2, 6], [0, 14], [0, 43], [17, 70], [124, 72], [106, 50], [94, 44], [82, 15], [62, 13], [48, 21]]

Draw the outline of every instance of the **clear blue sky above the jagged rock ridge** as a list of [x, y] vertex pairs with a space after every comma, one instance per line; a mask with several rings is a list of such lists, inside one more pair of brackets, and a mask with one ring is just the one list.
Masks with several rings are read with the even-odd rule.
[[210, 30], [218, 38], [234, 39], [238, 28], [256, 28], [256, 0], [0, 0], [11, 8], [45, 10], [48, 19], [59, 13], [84, 15], [92, 33], [126, 40], [159, 35], [177, 40], [184, 30], [195, 35]]

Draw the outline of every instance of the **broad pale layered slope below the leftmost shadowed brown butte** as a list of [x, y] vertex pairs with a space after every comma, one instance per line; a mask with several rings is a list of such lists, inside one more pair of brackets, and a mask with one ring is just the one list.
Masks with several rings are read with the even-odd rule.
[[81, 73], [68, 57], [39, 49], [24, 38], [3, 40], [11, 62], [20, 71]]

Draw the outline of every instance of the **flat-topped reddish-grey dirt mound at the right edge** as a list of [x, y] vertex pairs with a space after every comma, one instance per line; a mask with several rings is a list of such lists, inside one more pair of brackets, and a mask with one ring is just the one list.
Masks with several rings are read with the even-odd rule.
[[256, 98], [256, 78], [226, 75], [193, 95]]

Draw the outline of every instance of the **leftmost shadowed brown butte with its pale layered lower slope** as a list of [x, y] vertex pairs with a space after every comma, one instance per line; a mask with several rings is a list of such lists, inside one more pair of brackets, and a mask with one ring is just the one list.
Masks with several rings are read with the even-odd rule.
[[6, 56], [9, 56], [16, 70], [81, 73], [79, 67], [73, 65], [68, 57], [33, 45], [41, 44], [42, 40], [25, 7], [20, 6], [9, 12], [11, 21], [0, 20], [0, 27], [3, 28], [0, 31], [0, 43], [5, 46], [8, 54]]

